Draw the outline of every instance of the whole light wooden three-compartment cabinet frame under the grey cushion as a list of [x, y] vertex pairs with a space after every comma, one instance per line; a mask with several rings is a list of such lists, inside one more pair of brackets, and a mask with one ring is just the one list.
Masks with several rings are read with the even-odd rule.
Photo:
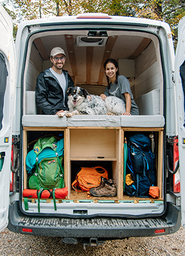
[[[163, 128], [105, 128], [105, 127], [24, 127], [23, 128], [23, 187], [27, 188], [27, 170], [25, 158], [31, 139], [44, 135], [61, 135], [64, 138], [64, 172], [65, 186], [68, 187], [68, 200], [88, 200], [86, 193], [72, 189], [74, 181], [73, 162], [91, 162], [95, 166], [99, 162], [109, 162], [111, 178], [117, 183], [117, 196], [114, 198], [93, 198], [91, 200], [128, 200], [123, 193], [123, 144], [128, 133], [135, 131], [153, 132], [155, 136], [155, 166], [157, 168], [157, 186], [160, 188], [162, 200], [163, 187]], [[32, 135], [32, 136], [30, 136]], [[37, 136], [38, 135], [38, 136]], [[73, 175], [72, 175], [73, 174]]]

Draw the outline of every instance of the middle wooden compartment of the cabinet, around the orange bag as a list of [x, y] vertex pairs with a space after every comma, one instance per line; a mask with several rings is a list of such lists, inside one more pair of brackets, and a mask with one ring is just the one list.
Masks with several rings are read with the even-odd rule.
[[65, 153], [68, 160], [65, 183], [68, 186], [68, 198], [76, 196], [71, 188], [72, 161], [94, 161], [96, 166], [98, 161], [110, 161], [112, 163], [111, 176], [117, 183], [117, 198], [122, 198], [123, 130], [121, 128], [72, 127], [67, 128], [66, 135]]

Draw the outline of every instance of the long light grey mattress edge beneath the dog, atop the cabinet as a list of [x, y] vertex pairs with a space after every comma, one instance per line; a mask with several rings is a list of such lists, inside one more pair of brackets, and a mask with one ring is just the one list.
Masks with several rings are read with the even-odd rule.
[[23, 115], [24, 127], [163, 127], [162, 115], [74, 115], [59, 118], [55, 115]]

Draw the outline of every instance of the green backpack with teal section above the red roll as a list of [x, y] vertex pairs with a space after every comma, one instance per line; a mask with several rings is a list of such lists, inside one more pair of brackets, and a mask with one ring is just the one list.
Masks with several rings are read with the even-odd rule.
[[[64, 156], [59, 156], [57, 153], [57, 139], [53, 136], [39, 138], [33, 151], [36, 154], [36, 165], [35, 173], [28, 180], [29, 188], [36, 190], [64, 188], [62, 164]], [[51, 156], [53, 154], [55, 157]]]

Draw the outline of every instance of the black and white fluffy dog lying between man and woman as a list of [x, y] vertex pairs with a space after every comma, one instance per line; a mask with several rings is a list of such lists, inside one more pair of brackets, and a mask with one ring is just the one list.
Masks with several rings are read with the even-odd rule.
[[69, 87], [67, 90], [69, 111], [59, 113], [59, 117], [72, 117], [73, 115], [121, 115], [125, 113], [125, 102], [109, 96], [102, 100], [100, 96], [91, 95], [81, 87]]

